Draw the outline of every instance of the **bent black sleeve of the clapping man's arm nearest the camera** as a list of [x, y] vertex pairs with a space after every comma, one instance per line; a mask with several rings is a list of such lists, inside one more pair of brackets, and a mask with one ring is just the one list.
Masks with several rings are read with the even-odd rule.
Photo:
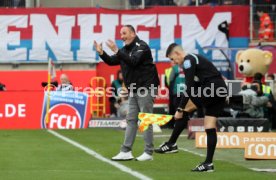
[[150, 53], [149, 47], [146, 44], [140, 44], [140, 46], [131, 54], [131, 56], [129, 56], [121, 49], [116, 55], [120, 60], [124, 61], [129, 66], [135, 67], [145, 59], [144, 57], [147, 53]]

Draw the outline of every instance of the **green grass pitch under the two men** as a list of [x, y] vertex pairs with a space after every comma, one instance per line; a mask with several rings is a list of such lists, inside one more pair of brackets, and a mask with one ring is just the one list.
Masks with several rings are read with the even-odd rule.
[[[124, 131], [114, 129], [58, 130], [59, 134], [110, 159], [118, 153]], [[169, 135], [170, 131], [163, 131]], [[156, 137], [155, 146], [168, 137]], [[194, 141], [181, 137], [179, 148], [205, 154], [194, 148]], [[143, 152], [143, 138], [136, 138], [133, 154]], [[276, 169], [276, 161], [246, 161], [242, 150], [217, 150], [214, 173], [193, 173], [191, 168], [204, 157], [180, 151], [175, 154], [154, 154], [149, 162], [128, 161], [120, 164], [152, 179], [276, 179], [276, 173], [255, 172], [249, 168]], [[102, 162], [83, 150], [53, 136], [47, 130], [0, 131], [0, 179], [136, 179], [131, 174]]]

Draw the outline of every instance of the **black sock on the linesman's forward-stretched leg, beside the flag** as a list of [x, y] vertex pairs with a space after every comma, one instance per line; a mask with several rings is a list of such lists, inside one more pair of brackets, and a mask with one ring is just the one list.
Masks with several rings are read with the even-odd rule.
[[175, 121], [175, 126], [173, 128], [172, 135], [168, 141], [168, 144], [175, 144], [179, 135], [182, 133], [184, 128], [187, 126], [187, 121], [189, 120], [188, 113], [184, 112], [183, 118]]

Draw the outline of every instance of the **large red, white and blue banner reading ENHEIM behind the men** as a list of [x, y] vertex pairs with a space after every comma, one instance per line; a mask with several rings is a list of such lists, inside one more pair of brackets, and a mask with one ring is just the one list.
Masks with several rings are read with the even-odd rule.
[[[122, 25], [131, 24], [149, 43], [154, 60], [164, 61], [167, 46], [181, 44], [188, 52], [205, 53], [204, 47], [247, 47], [248, 6], [154, 7], [144, 10], [103, 8], [26, 8], [0, 11], [0, 61], [98, 60], [93, 41], [120, 38]], [[229, 34], [223, 27], [229, 26]], [[226, 25], [226, 26], [227, 26]], [[104, 49], [110, 52], [105, 44]], [[227, 62], [218, 65], [228, 66]]]

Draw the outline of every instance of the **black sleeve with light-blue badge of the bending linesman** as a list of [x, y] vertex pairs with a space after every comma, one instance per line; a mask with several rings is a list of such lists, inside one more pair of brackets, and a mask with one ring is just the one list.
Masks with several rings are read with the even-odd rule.
[[184, 60], [183, 64], [184, 72], [185, 72], [185, 84], [186, 84], [186, 92], [181, 98], [179, 107], [185, 108], [190, 96], [191, 96], [191, 87], [194, 87], [195, 81], [195, 70], [196, 70], [196, 60], [194, 57]]

